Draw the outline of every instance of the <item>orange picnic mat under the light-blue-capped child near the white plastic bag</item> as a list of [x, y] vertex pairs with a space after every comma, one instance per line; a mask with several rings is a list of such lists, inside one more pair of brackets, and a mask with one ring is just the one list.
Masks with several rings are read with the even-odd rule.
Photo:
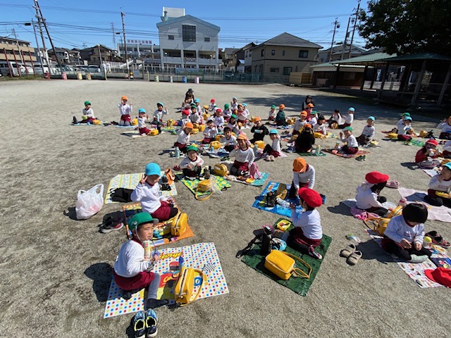
[[[175, 202], [174, 202], [175, 203]], [[175, 205], [177, 208], [178, 206]], [[180, 208], [178, 208], [180, 210]], [[136, 215], [137, 213], [142, 212], [141, 204], [135, 203], [135, 204], [128, 204], [127, 206], [122, 207], [122, 211], [124, 213], [124, 220], [125, 220], [125, 231], [127, 232], [127, 238], [132, 238], [132, 232], [128, 229], [128, 221], [130, 218], [132, 218], [133, 215]], [[154, 232], [154, 238], [152, 239], [154, 241], [154, 246], [160, 246], [168, 243], [173, 243], [180, 241], [180, 239], [190, 238], [193, 237], [194, 234], [192, 233], [192, 230], [190, 228], [190, 225], [187, 224], [185, 232], [183, 234], [180, 234], [180, 236], [175, 237], [171, 234], [171, 224], [172, 224], [173, 218], [170, 218], [169, 220], [160, 222], [156, 225], [155, 228], [160, 230], [159, 237], [155, 237]]]

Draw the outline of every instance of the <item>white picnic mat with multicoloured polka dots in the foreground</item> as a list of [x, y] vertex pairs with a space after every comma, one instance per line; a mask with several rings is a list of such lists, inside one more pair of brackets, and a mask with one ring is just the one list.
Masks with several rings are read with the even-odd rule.
[[[153, 272], [161, 275], [158, 299], [168, 299], [175, 303], [174, 289], [180, 271], [179, 258], [183, 257], [183, 265], [192, 266], [204, 271], [204, 284], [199, 298], [196, 300], [221, 294], [228, 294], [226, 277], [219, 262], [214, 243], [199, 243], [180, 248], [161, 249], [159, 261], [155, 263]], [[197, 293], [201, 277], [194, 279], [194, 292]], [[111, 286], [106, 301], [104, 318], [111, 318], [125, 313], [135, 313], [144, 310], [144, 289], [132, 295], [126, 301], [122, 298], [123, 291], [111, 280]]]

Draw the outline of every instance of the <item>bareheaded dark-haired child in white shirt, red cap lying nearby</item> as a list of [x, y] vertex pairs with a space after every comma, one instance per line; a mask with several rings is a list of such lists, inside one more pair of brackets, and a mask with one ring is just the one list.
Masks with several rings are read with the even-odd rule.
[[382, 248], [410, 263], [421, 263], [431, 257], [431, 250], [423, 247], [424, 222], [428, 208], [424, 204], [411, 203], [404, 206], [402, 215], [388, 222], [382, 240]]

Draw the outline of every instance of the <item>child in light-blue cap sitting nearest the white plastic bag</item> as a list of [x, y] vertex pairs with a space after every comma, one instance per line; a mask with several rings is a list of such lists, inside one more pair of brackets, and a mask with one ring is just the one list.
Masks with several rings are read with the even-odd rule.
[[178, 213], [178, 208], [174, 208], [172, 199], [167, 199], [160, 194], [161, 169], [156, 163], [146, 165], [142, 180], [130, 195], [130, 199], [135, 202], [141, 202], [141, 208], [144, 213], [150, 213], [153, 218], [159, 220], [168, 220]]

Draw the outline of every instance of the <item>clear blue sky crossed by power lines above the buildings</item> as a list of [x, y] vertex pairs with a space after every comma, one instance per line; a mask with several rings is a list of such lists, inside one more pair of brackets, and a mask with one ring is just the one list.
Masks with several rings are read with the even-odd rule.
[[[125, 13], [127, 39], [151, 40], [159, 44], [156, 23], [161, 22], [163, 7], [185, 8], [185, 14], [193, 15], [221, 27], [219, 48], [240, 48], [254, 42], [259, 44], [288, 32], [302, 39], [330, 48], [333, 23], [338, 18], [340, 28], [335, 42], [345, 38], [348, 19], [357, 8], [357, 0], [251, 0], [251, 1], [159, 1], [159, 0], [39, 0], [42, 15], [47, 20], [49, 33], [56, 47], [84, 48], [104, 44], [116, 49], [122, 35], [121, 11]], [[361, 8], [366, 9], [366, 0]], [[33, 0], [0, 0], [0, 36], [13, 37], [36, 46], [32, 26], [36, 20]], [[42, 41], [39, 39], [39, 46]], [[46, 46], [51, 48], [49, 40]], [[349, 40], [348, 40], [349, 43]], [[364, 46], [365, 41], [354, 35], [354, 44]]]

